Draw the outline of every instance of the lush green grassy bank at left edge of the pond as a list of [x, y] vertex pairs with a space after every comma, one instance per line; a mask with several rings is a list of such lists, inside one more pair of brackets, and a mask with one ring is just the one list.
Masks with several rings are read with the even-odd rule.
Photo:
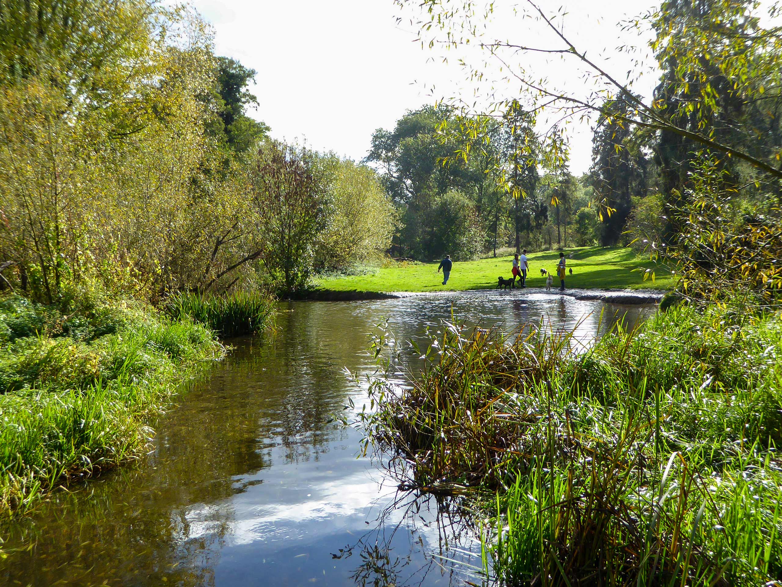
[[[0, 514], [23, 513], [59, 484], [138, 458], [149, 445], [149, 419], [203, 362], [225, 352], [203, 325], [172, 320], [138, 302], [98, 308], [93, 314], [114, 316], [117, 327], [95, 336], [100, 328], [85, 326], [91, 336], [83, 340], [65, 336], [59, 326], [38, 330], [40, 316], [51, 318], [58, 310], [5, 302]], [[48, 323], [76, 319], [60, 314]], [[37, 325], [34, 334], [18, 336], [27, 333], [23, 322]]]

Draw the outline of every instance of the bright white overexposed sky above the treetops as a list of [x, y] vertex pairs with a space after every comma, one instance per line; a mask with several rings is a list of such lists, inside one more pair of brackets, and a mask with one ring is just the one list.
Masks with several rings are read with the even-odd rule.
[[[508, 8], [516, 2], [496, 2]], [[630, 57], [615, 52], [627, 42], [643, 45], [637, 34], [616, 26], [657, 2], [651, 0], [541, 0], [543, 9], [567, 5], [565, 32], [590, 56], [622, 79]], [[306, 140], [317, 150], [333, 150], [355, 160], [363, 158], [376, 128], [393, 128], [405, 110], [434, 103], [443, 96], [471, 96], [455, 59], [443, 63], [437, 50], [421, 49], [409, 24], [414, 13], [401, 11], [393, 0], [193, 0], [212, 23], [218, 55], [238, 59], [256, 75], [260, 106], [251, 114], [271, 126], [277, 139]], [[396, 16], [407, 21], [396, 23]], [[493, 36], [538, 44], [538, 25], [498, 16]], [[519, 38], [525, 36], [526, 38]], [[583, 84], [568, 64], [538, 63], [541, 74], [558, 72], [565, 85]], [[646, 94], [655, 85], [647, 76]], [[432, 88], [434, 88], [432, 90]], [[508, 86], [508, 92], [511, 92]], [[587, 171], [591, 132], [587, 121], [573, 124], [571, 171]]]

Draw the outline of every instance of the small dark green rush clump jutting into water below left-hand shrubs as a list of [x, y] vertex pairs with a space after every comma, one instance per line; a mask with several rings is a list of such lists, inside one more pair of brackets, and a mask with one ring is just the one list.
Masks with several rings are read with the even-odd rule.
[[239, 337], [266, 330], [274, 318], [274, 298], [262, 292], [236, 290], [231, 294], [175, 294], [167, 304], [174, 319], [189, 316], [222, 337]]

